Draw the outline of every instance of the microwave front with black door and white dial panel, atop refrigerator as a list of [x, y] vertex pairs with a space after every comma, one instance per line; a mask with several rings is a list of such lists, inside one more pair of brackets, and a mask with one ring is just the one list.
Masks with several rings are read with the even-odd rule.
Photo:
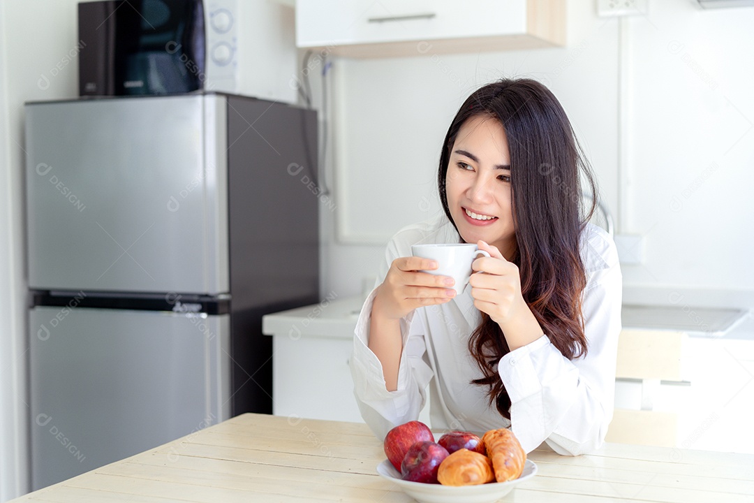
[[233, 4], [219, 3], [208, 13], [203, 0], [80, 2], [79, 95], [222, 90], [214, 84], [234, 75], [235, 36]]

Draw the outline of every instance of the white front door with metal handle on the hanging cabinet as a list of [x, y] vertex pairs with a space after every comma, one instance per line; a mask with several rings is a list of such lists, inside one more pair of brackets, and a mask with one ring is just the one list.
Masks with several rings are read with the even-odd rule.
[[523, 35], [526, 7], [526, 0], [299, 0], [296, 44], [327, 47]]

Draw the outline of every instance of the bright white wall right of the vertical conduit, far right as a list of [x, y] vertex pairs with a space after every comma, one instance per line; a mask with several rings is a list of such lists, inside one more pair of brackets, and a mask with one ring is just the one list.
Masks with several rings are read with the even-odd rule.
[[630, 23], [633, 116], [627, 282], [754, 290], [754, 8], [651, 2]]

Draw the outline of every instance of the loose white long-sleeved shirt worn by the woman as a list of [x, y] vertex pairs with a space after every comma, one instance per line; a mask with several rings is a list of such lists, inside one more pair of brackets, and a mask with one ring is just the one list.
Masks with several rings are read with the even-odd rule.
[[[375, 290], [394, 259], [412, 255], [412, 244], [461, 242], [444, 213], [404, 227], [388, 243]], [[384, 438], [394, 426], [418, 419], [429, 391], [432, 428], [485, 432], [510, 426], [526, 452], [543, 441], [561, 454], [598, 448], [612, 419], [621, 268], [615, 244], [596, 225], [587, 225], [581, 235], [581, 259], [587, 272], [582, 293], [587, 356], [568, 360], [542, 336], [502, 357], [498, 373], [510, 396], [510, 421], [489, 405], [486, 386], [470, 384], [482, 376], [467, 346], [482, 319], [470, 287], [400, 320], [403, 352], [395, 391], [385, 388], [382, 364], [367, 347], [372, 290], [361, 309], [350, 360], [364, 421]]]

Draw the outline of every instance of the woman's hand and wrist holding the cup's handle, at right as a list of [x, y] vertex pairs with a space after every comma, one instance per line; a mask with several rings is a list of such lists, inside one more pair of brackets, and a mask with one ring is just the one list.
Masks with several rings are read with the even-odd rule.
[[539, 339], [542, 328], [521, 294], [518, 267], [497, 247], [484, 241], [478, 241], [477, 246], [489, 257], [482, 256], [471, 264], [474, 272], [485, 273], [473, 274], [469, 280], [474, 306], [500, 325], [511, 351]]

